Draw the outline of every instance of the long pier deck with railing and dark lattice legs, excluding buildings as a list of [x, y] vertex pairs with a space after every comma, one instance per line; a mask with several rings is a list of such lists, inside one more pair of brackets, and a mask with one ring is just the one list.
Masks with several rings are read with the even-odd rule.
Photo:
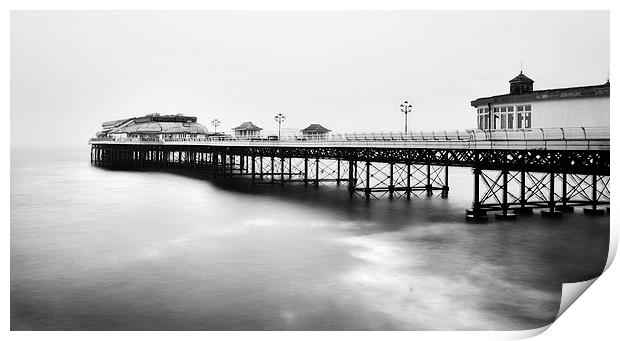
[[[472, 169], [470, 222], [575, 207], [609, 211], [609, 127], [329, 134], [279, 140], [144, 137], [90, 140], [106, 168], [187, 168], [252, 184], [346, 184], [351, 198], [448, 197], [449, 169]], [[466, 208], [464, 208], [466, 209]]]

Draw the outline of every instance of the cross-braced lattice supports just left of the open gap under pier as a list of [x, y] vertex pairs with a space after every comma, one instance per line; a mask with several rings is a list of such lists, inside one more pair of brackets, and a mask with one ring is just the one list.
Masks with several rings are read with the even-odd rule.
[[[429, 194], [439, 196], [447, 191], [444, 166], [358, 162], [355, 171], [355, 196], [403, 198]], [[443, 192], [443, 195], [446, 194]]]

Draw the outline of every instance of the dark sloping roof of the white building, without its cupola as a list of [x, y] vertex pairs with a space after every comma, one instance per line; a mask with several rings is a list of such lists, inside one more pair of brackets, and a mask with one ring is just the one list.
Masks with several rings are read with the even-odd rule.
[[568, 98], [609, 97], [609, 82], [601, 85], [535, 90], [524, 93], [481, 97], [471, 101], [473, 107], [488, 104], [520, 103]]

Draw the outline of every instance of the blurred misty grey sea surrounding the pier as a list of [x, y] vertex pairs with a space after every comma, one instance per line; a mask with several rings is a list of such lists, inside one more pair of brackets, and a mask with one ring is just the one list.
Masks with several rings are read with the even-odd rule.
[[450, 176], [449, 199], [366, 203], [13, 149], [11, 328], [530, 329], [602, 271], [608, 215], [465, 224]]

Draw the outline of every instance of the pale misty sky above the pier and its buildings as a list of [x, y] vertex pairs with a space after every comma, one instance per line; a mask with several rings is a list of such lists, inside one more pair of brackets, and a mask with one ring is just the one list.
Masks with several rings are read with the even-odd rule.
[[470, 101], [601, 84], [609, 12], [13, 12], [11, 143], [86, 145], [101, 122], [185, 113], [334, 132], [467, 129]]

